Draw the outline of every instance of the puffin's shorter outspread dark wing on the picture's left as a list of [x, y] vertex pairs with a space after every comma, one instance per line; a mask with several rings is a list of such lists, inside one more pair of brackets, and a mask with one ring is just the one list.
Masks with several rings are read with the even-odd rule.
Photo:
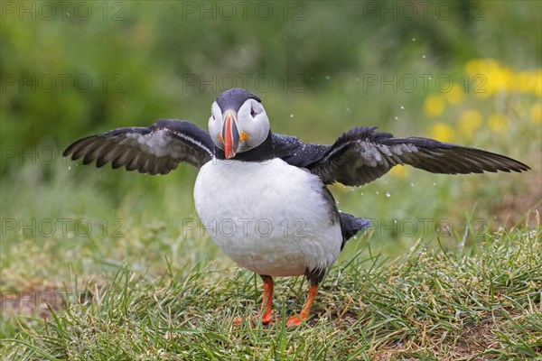
[[200, 168], [214, 154], [209, 133], [190, 122], [160, 119], [148, 127], [127, 127], [90, 135], [72, 143], [64, 151], [72, 160], [83, 164], [96, 160], [102, 167], [111, 162], [113, 169], [125, 166], [126, 171], [167, 174], [179, 162]]

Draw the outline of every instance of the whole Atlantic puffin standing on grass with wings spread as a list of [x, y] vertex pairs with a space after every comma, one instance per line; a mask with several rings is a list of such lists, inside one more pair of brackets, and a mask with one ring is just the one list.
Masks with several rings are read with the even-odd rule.
[[397, 164], [445, 174], [528, 171], [522, 162], [472, 147], [421, 137], [396, 138], [360, 126], [332, 144], [274, 134], [262, 101], [229, 89], [212, 103], [209, 132], [183, 120], [160, 119], [79, 139], [64, 156], [83, 164], [167, 174], [180, 162], [200, 169], [194, 203], [201, 224], [233, 261], [263, 280], [260, 319], [272, 319], [273, 277], [304, 275], [310, 282], [308, 317], [326, 270], [345, 242], [370, 226], [340, 212], [327, 185], [361, 186]]

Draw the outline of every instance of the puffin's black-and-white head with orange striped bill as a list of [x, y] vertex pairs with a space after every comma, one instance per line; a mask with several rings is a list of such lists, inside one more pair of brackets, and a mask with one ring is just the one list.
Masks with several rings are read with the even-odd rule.
[[262, 101], [245, 89], [226, 90], [212, 103], [209, 134], [226, 159], [256, 148], [269, 134], [269, 118]]

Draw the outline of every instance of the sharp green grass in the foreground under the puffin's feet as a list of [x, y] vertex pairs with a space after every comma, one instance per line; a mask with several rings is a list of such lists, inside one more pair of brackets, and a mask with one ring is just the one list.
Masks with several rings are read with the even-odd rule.
[[[224, 256], [191, 259], [201, 239], [179, 247], [180, 260], [107, 264], [105, 274], [73, 276], [57, 289], [66, 304], [39, 316], [4, 312], [5, 359], [525, 359], [542, 355], [542, 229], [500, 229], [445, 250], [419, 241], [390, 260], [367, 236], [322, 283], [313, 316], [298, 329], [304, 279], [278, 279], [275, 321], [256, 320], [259, 278]], [[153, 227], [132, 242], [163, 243]], [[469, 237], [470, 236], [466, 236]], [[456, 239], [458, 245], [464, 239]], [[21, 245], [27, 257], [47, 249]], [[161, 261], [158, 259], [161, 258]], [[40, 309], [39, 306], [38, 309]], [[34, 311], [35, 315], [35, 311]], [[236, 316], [245, 321], [232, 323]]]

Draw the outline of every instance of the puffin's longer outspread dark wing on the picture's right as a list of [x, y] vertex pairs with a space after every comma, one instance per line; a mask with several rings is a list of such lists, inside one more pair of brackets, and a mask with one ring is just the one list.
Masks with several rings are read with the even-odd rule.
[[530, 169], [522, 162], [481, 149], [428, 138], [394, 138], [375, 129], [376, 126], [362, 126], [342, 134], [320, 160], [307, 168], [326, 184], [338, 181], [347, 186], [376, 180], [397, 164], [444, 174]]

